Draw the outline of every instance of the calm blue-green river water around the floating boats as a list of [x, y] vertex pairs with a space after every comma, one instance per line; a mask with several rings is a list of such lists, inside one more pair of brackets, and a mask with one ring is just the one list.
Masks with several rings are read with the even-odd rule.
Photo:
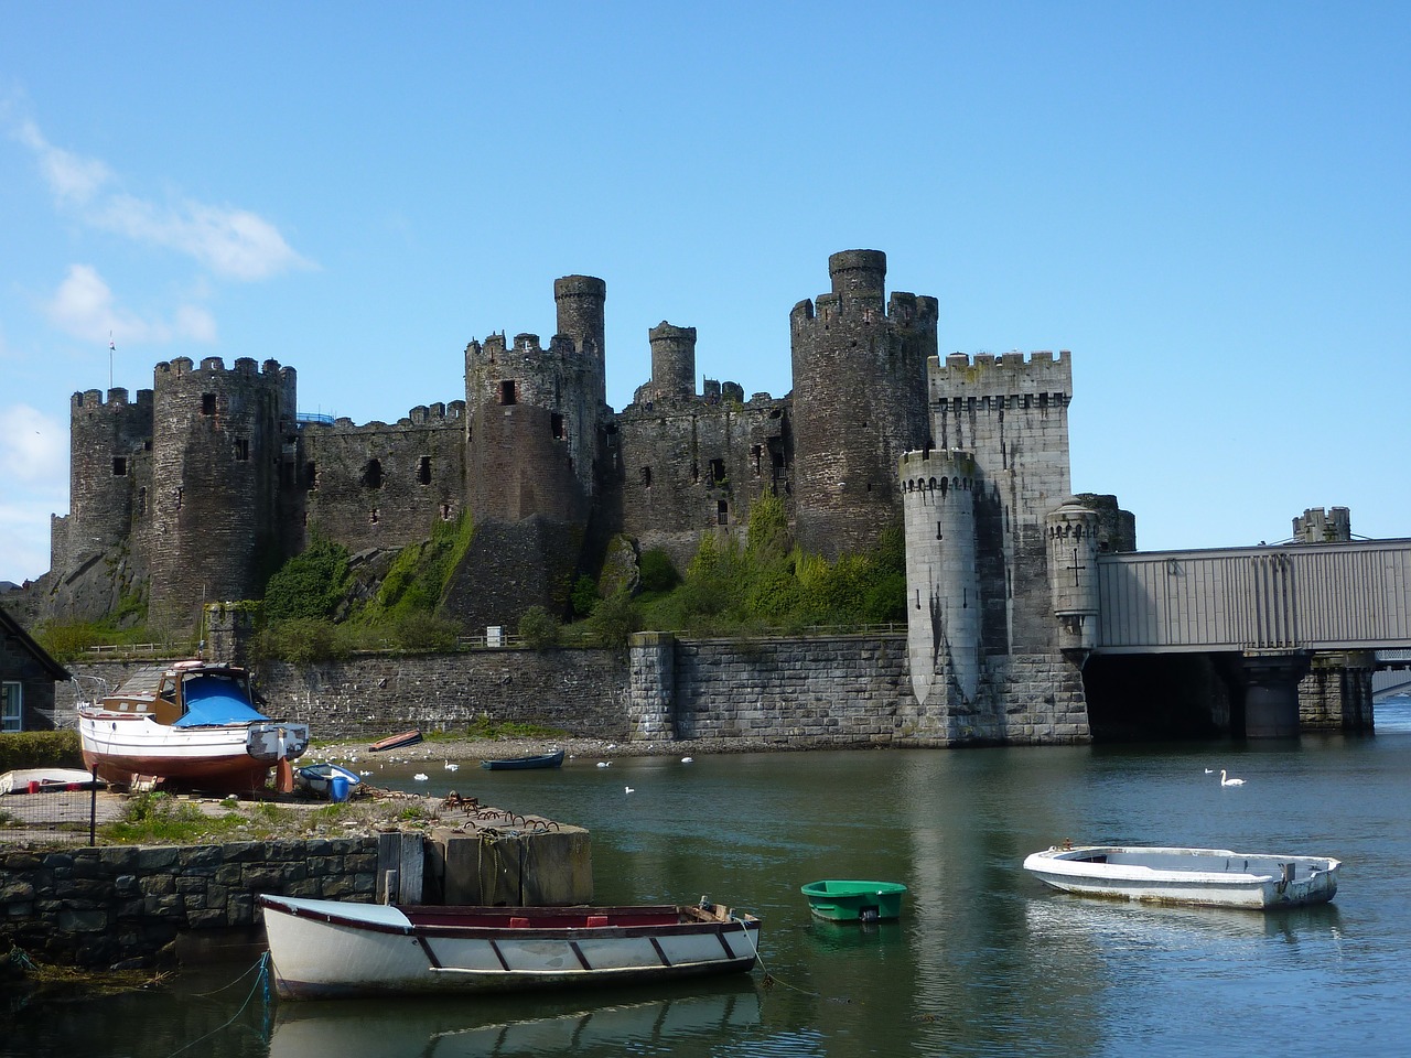
[[[14, 1055], [1404, 1054], [1411, 1038], [1411, 700], [1376, 736], [1288, 743], [577, 759], [444, 772], [484, 804], [593, 832], [597, 899], [706, 896], [763, 920], [734, 979], [492, 1000], [267, 1000], [244, 965], [11, 1010]], [[422, 765], [425, 767], [425, 765]], [[1246, 780], [1222, 789], [1219, 769]], [[1209, 772], [1206, 769], [1211, 769]], [[632, 793], [628, 793], [631, 787]], [[1336, 900], [1259, 914], [1053, 893], [1023, 858], [1075, 844], [1343, 861]], [[816, 921], [799, 886], [903, 882], [900, 921]]]

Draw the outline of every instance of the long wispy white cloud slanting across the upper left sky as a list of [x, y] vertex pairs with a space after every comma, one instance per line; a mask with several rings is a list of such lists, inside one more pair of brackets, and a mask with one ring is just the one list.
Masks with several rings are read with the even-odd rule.
[[34, 151], [59, 205], [76, 209], [93, 227], [175, 250], [226, 279], [264, 279], [312, 267], [278, 227], [250, 210], [190, 200], [162, 206], [109, 190], [116, 178], [107, 165], [54, 147], [34, 121], [21, 123], [16, 138]]

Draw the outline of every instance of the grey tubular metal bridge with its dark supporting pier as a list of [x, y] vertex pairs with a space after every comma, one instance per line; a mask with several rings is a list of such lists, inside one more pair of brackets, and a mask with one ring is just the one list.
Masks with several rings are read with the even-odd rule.
[[1312, 655], [1411, 650], [1411, 539], [1098, 554], [1096, 574], [1094, 653], [1237, 655], [1249, 735], [1298, 732]]

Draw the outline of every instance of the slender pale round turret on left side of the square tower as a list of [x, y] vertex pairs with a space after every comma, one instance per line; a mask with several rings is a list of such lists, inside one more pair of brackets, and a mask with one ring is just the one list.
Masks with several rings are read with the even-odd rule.
[[907, 655], [921, 705], [974, 703], [979, 690], [978, 474], [967, 451], [910, 451], [899, 461]]

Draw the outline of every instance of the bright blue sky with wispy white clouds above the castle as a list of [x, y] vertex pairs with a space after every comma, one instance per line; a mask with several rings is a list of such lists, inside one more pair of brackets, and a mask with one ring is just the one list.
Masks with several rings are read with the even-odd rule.
[[[680, 10], [676, 10], [680, 8]], [[1144, 550], [1411, 536], [1411, 6], [0, 0], [0, 580], [48, 568], [75, 391], [275, 358], [305, 412], [464, 395], [607, 281], [789, 391], [838, 250], [943, 353], [1072, 351], [1072, 482]], [[109, 339], [116, 344], [111, 355]]]

